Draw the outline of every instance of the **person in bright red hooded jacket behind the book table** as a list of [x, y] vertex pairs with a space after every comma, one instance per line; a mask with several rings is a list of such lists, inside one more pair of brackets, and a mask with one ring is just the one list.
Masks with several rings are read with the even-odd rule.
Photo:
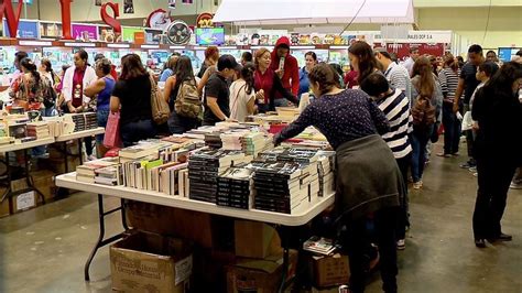
[[[281, 36], [275, 42], [272, 51], [272, 63], [270, 67], [278, 74], [283, 83], [283, 87], [297, 96], [300, 91], [300, 66], [297, 59], [290, 55], [290, 40]], [[279, 93], [275, 94], [275, 107], [287, 106], [286, 99]]]

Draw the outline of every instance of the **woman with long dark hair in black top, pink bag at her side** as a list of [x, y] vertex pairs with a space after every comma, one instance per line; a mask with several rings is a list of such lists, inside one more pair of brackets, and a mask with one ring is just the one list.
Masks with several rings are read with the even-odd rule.
[[120, 134], [124, 146], [154, 138], [151, 89], [156, 86], [137, 54], [121, 58], [121, 75], [110, 97], [110, 111], [120, 111]]

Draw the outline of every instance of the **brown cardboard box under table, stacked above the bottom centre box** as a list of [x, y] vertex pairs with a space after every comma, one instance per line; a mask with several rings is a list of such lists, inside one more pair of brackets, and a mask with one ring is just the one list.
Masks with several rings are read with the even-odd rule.
[[278, 231], [264, 223], [236, 220], [235, 239], [238, 257], [264, 259], [282, 252]]

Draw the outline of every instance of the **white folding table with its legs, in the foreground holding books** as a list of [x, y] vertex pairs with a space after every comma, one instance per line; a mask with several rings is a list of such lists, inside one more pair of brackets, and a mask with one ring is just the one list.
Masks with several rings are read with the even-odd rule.
[[[273, 211], [264, 211], [258, 209], [238, 209], [217, 206], [213, 203], [199, 202], [194, 199], [188, 199], [187, 197], [181, 196], [171, 196], [162, 193], [135, 189], [123, 186], [106, 186], [100, 184], [84, 183], [76, 180], [76, 173], [67, 173], [56, 177], [56, 186], [95, 193], [98, 194], [98, 213], [99, 213], [99, 228], [100, 234], [98, 240], [93, 249], [86, 264], [85, 264], [85, 280], [89, 281], [89, 267], [93, 258], [95, 257], [97, 250], [104, 246], [107, 246], [120, 238], [123, 237], [124, 231], [105, 239], [105, 216], [121, 210], [122, 214], [122, 225], [127, 230], [128, 226], [126, 223], [124, 215], [124, 199], [138, 200], [142, 203], [150, 203], [156, 205], [163, 205], [168, 207], [182, 208], [187, 210], [195, 210], [202, 213], [208, 213], [214, 215], [221, 215], [238, 219], [262, 221], [271, 225], [278, 226], [278, 231], [281, 236], [281, 243], [283, 246], [283, 273], [287, 272], [289, 265], [289, 234], [287, 230], [290, 227], [303, 226], [311, 221], [314, 217], [319, 215], [326, 208], [335, 202], [335, 195], [329, 194], [323, 197], [316, 197], [312, 202], [300, 205], [295, 210], [292, 210], [292, 214], [281, 214]], [[121, 198], [121, 206], [112, 210], [104, 210], [104, 195], [115, 196]], [[285, 275], [283, 275], [283, 281], [281, 290], [284, 287]]]

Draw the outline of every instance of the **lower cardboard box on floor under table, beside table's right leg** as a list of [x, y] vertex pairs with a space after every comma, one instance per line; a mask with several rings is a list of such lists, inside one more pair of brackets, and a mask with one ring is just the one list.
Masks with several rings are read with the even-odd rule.
[[[283, 257], [268, 257], [264, 260], [238, 259], [235, 265], [227, 268], [227, 292], [278, 292], [283, 275]], [[297, 251], [291, 250], [286, 280], [295, 275]]]

